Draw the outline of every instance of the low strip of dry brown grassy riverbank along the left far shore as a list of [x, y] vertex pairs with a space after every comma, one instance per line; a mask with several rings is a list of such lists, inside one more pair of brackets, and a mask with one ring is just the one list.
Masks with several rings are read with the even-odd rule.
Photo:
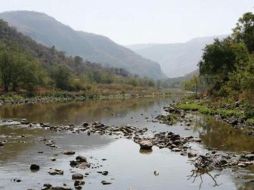
[[[128, 85], [127, 85], [128, 86]], [[118, 85], [97, 85], [96, 89], [81, 92], [49, 91], [35, 93], [28, 96], [26, 93], [4, 93], [0, 95], [0, 105], [4, 104], [37, 104], [54, 102], [82, 102], [86, 100], [129, 99], [168, 97], [171, 92], [166, 89], [141, 88], [128, 86], [125, 90]]]

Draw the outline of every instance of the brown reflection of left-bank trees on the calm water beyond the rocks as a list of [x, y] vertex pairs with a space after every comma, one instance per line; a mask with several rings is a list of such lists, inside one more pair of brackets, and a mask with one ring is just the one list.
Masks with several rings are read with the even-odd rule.
[[[159, 101], [159, 100], [158, 100]], [[76, 123], [113, 117], [114, 113], [126, 115], [130, 111], [147, 109], [154, 99], [101, 100], [74, 103], [49, 103], [14, 105], [0, 108], [2, 118], [27, 118], [30, 121], [50, 123]]]

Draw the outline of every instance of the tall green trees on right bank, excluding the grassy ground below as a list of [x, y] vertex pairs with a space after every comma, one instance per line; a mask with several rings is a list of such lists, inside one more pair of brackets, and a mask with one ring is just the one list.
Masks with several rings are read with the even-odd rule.
[[208, 95], [250, 97], [254, 91], [254, 14], [244, 14], [230, 37], [206, 46], [199, 71]]

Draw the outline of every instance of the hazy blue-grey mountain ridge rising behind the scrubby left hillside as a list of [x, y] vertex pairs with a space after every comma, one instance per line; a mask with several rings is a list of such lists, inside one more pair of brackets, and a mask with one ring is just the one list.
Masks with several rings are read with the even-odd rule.
[[75, 31], [46, 14], [12, 11], [1, 13], [0, 18], [37, 42], [49, 47], [55, 46], [68, 55], [81, 56], [104, 66], [124, 68], [142, 77], [166, 77], [158, 63], [137, 55], [107, 37]]

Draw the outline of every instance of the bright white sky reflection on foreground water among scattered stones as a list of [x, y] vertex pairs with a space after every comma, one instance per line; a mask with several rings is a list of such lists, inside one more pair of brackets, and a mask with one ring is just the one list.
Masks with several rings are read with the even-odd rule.
[[[87, 137], [65, 136], [64, 138], [57, 137], [56, 141], [61, 149], [72, 149], [78, 154], [88, 157], [88, 160], [95, 164], [102, 164], [100, 169], [88, 169], [85, 171], [73, 169], [76, 172], [91, 172], [85, 179], [85, 188], [87, 189], [146, 189], [146, 190], [164, 190], [165, 187], [170, 189], [183, 189], [183, 190], [196, 190], [200, 184], [198, 178], [195, 183], [188, 180], [187, 176], [191, 174], [192, 166], [189, 164], [187, 157], [181, 156], [178, 153], [170, 152], [169, 150], [159, 150], [154, 148], [151, 154], [140, 154], [139, 146], [132, 141], [119, 139], [111, 141], [103, 146], [97, 146], [92, 149], [87, 149]], [[94, 138], [94, 137], [93, 137]], [[98, 139], [97, 137], [95, 137]], [[64, 143], [64, 144], [61, 144]], [[81, 143], [81, 144], [79, 144]], [[75, 146], [78, 145], [78, 146]], [[66, 183], [70, 186], [73, 185], [71, 180], [71, 171], [69, 161], [74, 159], [75, 156], [66, 156], [60, 154], [57, 156], [56, 162], [49, 161], [50, 156], [56, 151], [48, 151], [46, 154], [41, 154], [27, 158], [35, 154], [35, 149], [29, 150], [20, 158], [26, 160], [18, 160], [13, 164], [9, 164], [0, 170], [0, 184], [7, 186], [10, 189], [26, 189], [26, 188], [40, 188], [44, 183], [51, 183], [53, 185], [62, 185]], [[49, 153], [51, 152], [51, 153]], [[93, 158], [91, 158], [92, 156]], [[101, 159], [106, 158], [106, 161]], [[31, 162], [42, 162], [41, 169], [37, 173], [29, 171], [29, 164]], [[58, 168], [64, 170], [64, 176], [50, 176], [47, 174], [48, 169]], [[18, 168], [18, 169], [17, 169]], [[109, 171], [108, 176], [102, 176], [97, 171]], [[154, 176], [154, 171], [159, 172], [159, 176]], [[215, 173], [212, 173], [213, 175]], [[20, 184], [10, 183], [10, 178], [18, 177], [23, 181]], [[112, 178], [114, 178], [112, 180]], [[32, 179], [32, 180], [31, 180]], [[112, 181], [112, 185], [102, 186], [101, 180]], [[216, 189], [232, 190], [235, 185], [232, 182], [230, 175], [225, 172], [218, 177], [218, 183], [222, 183]], [[213, 181], [208, 176], [203, 176], [202, 189], [212, 189]], [[0, 187], [1, 187], [0, 185]]]

